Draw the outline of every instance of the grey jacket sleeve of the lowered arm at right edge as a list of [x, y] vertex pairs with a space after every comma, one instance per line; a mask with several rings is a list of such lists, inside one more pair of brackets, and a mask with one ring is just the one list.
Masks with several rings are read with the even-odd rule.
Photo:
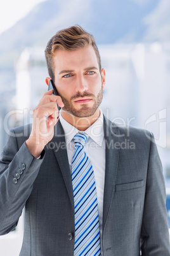
[[145, 206], [141, 228], [141, 255], [169, 256], [169, 230], [167, 224], [166, 188], [157, 146], [150, 137]]

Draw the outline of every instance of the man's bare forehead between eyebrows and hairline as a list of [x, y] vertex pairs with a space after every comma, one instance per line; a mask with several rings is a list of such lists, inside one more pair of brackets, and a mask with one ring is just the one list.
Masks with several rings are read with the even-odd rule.
[[56, 70], [63, 68], [88, 68], [92, 66], [99, 68], [96, 53], [92, 45], [72, 51], [57, 49], [53, 57], [53, 63], [55, 64]]

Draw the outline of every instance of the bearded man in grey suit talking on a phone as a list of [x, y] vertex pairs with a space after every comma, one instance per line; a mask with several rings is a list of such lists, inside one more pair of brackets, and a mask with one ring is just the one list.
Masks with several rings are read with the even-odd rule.
[[[46, 92], [32, 127], [13, 129], [4, 146], [1, 234], [16, 227], [25, 206], [20, 256], [170, 255], [154, 138], [103, 116], [105, 69], [95, 39], [70, 27], [45, 53], [46, 83], [52, 79], [60, 96]], [[131, 148], [122, 146], [128, 139]]]

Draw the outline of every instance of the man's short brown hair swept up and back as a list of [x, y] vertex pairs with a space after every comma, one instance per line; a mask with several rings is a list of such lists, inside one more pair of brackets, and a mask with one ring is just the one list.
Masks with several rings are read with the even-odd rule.
[[82, 29], [80, 25], [75, 25], [58, 31], [55, 36], [49, 40], [45, 49], [48, 73], [51, 79], [55, 81], [53, 56], [56, 49], [72, 51], [88, 45], [93, 46], [98, 59], [98, 66], [101, 70], [100, 53], [98, 51], [98, 47], [96, 46], [95, 38], [91, 34]]

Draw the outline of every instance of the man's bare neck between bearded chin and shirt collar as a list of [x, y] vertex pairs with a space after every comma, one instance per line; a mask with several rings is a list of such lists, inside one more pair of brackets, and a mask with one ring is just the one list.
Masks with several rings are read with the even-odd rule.
[[85, 131], [92, 124], [96, 122], [96, 120], [100, 117], [99, 108], [91, 117], [75, 117], [74, 115], [61, 110], [62, 117], [71, 125], [73, 125], [79, 131]]

